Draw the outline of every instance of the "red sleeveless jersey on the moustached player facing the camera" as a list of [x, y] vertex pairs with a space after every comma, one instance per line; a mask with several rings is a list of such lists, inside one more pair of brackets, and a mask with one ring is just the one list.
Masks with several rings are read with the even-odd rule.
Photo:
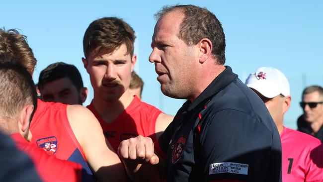
[[[106, 123], [95, 110], [93, 103], [87, 106], [100, 122], [104, 136], [108, 139], [114, 151], [118, 151], [122, 140], [142, 135], [156, 140], [155, 126], [161, 110], [141, 101], [137, 96], [130, 105], [112, 122]], [[107, 111], [108, 112], [108, 111]]]

